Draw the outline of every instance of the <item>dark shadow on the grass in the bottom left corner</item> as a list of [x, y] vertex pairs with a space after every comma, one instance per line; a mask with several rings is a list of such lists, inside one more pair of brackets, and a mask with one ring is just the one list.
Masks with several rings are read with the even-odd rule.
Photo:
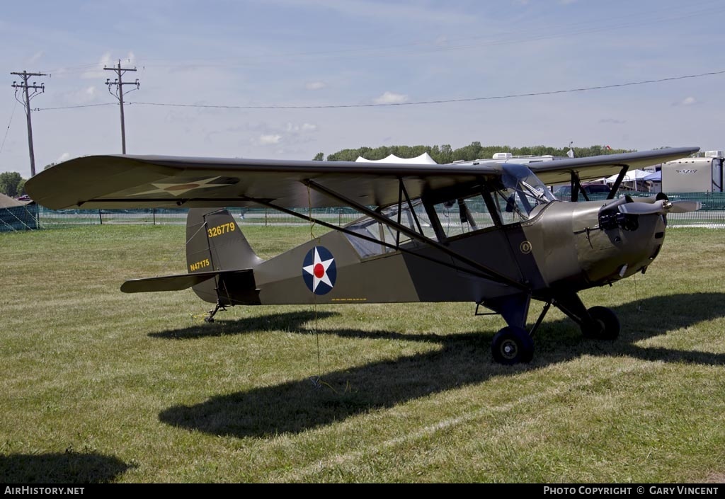
[[112, 455], [50, 453], [0, 455], [5, 484], [108, 483], [132, 466]]

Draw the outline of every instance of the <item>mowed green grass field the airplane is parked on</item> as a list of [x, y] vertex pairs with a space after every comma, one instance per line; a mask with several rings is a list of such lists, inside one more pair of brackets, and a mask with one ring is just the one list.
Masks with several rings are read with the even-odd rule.
[[[243, 228], [269, 257], [308, 227]], [[315, 229], [317, 230], [317, 229]], [[550, 311], [529, 365], [470, 303], [236, 307], [123, 294], [182, 226], [2, 234], [0, 482], [722, 482], [725, 231]], [[541, 310], [532, 306], [530, 323]]]

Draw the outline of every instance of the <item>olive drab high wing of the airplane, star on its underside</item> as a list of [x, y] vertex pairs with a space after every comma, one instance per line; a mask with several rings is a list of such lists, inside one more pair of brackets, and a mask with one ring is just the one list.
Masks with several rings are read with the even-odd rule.
[[[610, 176], [685, 157], [697, 147], [530, 163], [547, 184]], [[79, 157], [44, 170], [25, 183], [40, 205], [64, 208], [132, 207], [336, 207], [397, 203], [401, 186], [410, 199], [460, 183], [493, 180], [498, 164], [409, 165], [370, 162], [247, 160], [107, 155]], [[314, 188], [310, 188], [313, 186]], [[323, 194], [332, 191], [335, 197]]]

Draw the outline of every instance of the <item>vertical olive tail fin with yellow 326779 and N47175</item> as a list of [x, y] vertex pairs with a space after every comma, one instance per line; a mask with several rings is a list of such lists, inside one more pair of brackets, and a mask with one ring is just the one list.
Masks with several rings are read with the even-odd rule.
[[[233, 216], [223, 208], [191, 208], [186, 218], [186, 265], [189, 273], [252, 271], [262, 259], [254, 254]], [[251, 281], [250, 281], [251, 278]], [[217, 276], [192, 286], [207, 302], [220, 305], [259, 303], [253, 273], [244, 281]]]

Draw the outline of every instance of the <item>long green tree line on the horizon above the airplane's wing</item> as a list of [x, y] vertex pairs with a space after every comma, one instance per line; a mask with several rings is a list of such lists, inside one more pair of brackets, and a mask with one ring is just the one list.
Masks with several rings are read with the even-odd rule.
[[[572, 147], [574, 157], [590, 157], [600, 154], [617, 154], [619, 152], [633, 152], [633, 149], [611, 149], [608, 146]], [[453, 149], [449, 144], [442, 146], [381, 146], [381, 147], [358, 147], [357, 149], [342, 149], [341, 151], [328, 154], [328, 161], [355, 161], [357, 157], [364, 157], [366, 160], [382, 160], [384, 157], [394, 154], [397, 157], [417, 157], [427, 152], [439, 165], [452, 163], [454, 161], [473, 161], [491, 159], [497, 152], [510, 152], [514, 156], [552, 156], [566, 157], [569, 147], [531, 146], [531, 147], [510, 147], [510, 146], [482, 146], [481, 142], [471, 142], [468, 146]], [[322, 161], [325, 155], [318, 152], [314, 160]]]

